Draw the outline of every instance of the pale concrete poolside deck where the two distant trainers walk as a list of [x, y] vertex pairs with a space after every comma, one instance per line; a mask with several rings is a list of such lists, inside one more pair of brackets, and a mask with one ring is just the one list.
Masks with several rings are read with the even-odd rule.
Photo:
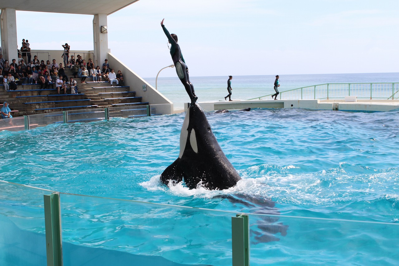
[[[345, 101], [345, 99], [330, 100], [237, 100], [237, 101], [213, 101], [199, 102], [204, 111], [215, 111], [219, 109], [244, 109], [251, 108], [304, 108], [313, 110], [336, 110], [336, 111], [364, 111], [383, 112], [399, 109], [399, 100], [367, 100]], [[187, 110], [188, 104], [184, 106]]]

